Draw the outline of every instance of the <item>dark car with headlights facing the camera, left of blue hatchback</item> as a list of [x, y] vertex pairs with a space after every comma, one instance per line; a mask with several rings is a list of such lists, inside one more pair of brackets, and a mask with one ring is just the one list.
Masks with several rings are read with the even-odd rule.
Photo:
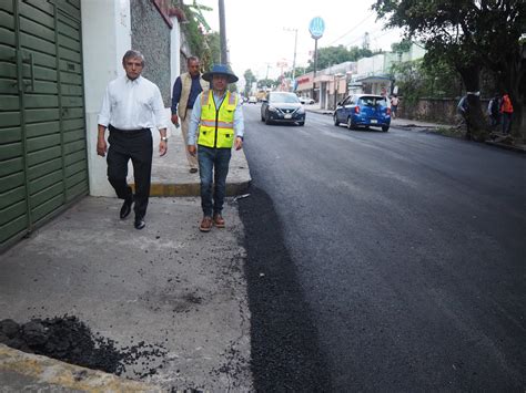
[[305, 124], [305, 110], [294, 93], [270, 92], [261, 105], [261, 121], [272, 123]]

